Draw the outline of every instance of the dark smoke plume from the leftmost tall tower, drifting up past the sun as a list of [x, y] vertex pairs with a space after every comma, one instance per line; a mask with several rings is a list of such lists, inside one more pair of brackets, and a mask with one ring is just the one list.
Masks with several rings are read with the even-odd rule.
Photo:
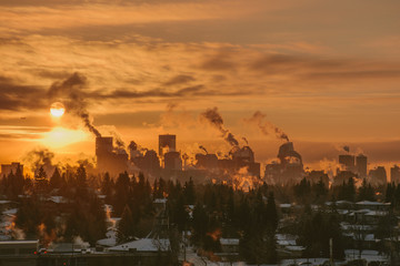
[[49, 91], [50, 100], [60, 100], [66, 104], [68, 111], [82, 119], [84, 126], [88, 127], [96, 136], [101, 136], [94, 127], [83, 100], [82, 89], [87, 85], [87, 79], [76, 72], [64, 81], [54, 82]]

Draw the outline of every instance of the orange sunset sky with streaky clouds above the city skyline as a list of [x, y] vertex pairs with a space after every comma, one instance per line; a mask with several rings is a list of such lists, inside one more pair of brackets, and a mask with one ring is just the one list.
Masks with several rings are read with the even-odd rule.
[[82, 112], [127, 144], [156, 149], [171, 133], [182, 151], [227, 151], [200, 119], [213, 108], [260, 162], [282, 140], [248, 123], [257, 111], [311, 166], [342, 145], [371, 165], [400, 162], [399, 11], [398, 0], [0, 0], [0, 162], [42, 147], [92, 157]]

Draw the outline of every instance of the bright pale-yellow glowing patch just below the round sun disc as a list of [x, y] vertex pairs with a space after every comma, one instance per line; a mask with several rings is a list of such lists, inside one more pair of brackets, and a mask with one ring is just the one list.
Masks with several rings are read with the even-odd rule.
[[54, 127], [52, 131], [44, 133], [41, 143], [50, 147], [62, 147], [88, 139], [88, 133], [81, 130], [67, 130]]

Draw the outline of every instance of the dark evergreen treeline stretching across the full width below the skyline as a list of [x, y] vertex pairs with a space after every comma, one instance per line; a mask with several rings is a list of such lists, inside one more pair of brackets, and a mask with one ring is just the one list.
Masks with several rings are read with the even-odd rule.
[[[163, 178], [150, 183], [143, 174], [121, 173], [117, 178], [108, 174], [88, 176], [82, 165], [64, 173], [56, 168], [50, 178], [43, 168], [34, 180], [17, 171], [0, 181], [0, 192], [19, 204], [16, 227], [27, 238], [40, 238], [44, 244], [80, 236], [94, 245], [104, 238], [106, 203], [112, 206], [112, 216], [121, 217], [118, 243], [144, 237], [154, 232], [160, 219], [166, 219], [168, 231], [158, 228], [157, 233], [170, 238], [174, 254], [182, 235], [190, 235], [190, 242], [210, 255], [221, 252], [220, 238], [238, 238], [240, 259], [251, 264], [277, 262], [277, 232], [299, 235], [297, 244], [304, 246], [303, 256], [310, 257], [328, 256], [332, 238], [334, 257], [342, 258], [346, 243], [339, 216], [327, 209], [327, 201], [380, 200], [392, 203], [393, 211], [400, 206], [399, 185], [376, 190], [366, 180], [359, 187], [353, 178], [328, 187], [322, 180], [313, 183], [303, 178], [292, 186], [263, 184], [243, 192], [226, 184], [194, 185], [191, 178], [184, 183]], [[62, 196], [63, 202], [54, 204], [49, 201], [51, 196]], [[279, 203], [297, 202], [304, 206], [303, 212], [296, 214], [296, 221], [279, 231], [276, 198]], [[154, 200], [163, 200], [166, 207], [157, 206]], [[324, 207], [316, 212], [311, 204]], [[386, 236], [384, 228], [391, 223], [382, 219], [379, 234]]]

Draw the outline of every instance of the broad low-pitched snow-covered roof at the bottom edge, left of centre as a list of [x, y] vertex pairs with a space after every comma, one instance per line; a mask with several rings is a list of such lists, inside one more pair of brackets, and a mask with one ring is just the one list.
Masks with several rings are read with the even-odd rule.
[[138, 252], [167, 252], [170, 248], [169, 239], [151, 239], [142, 238], [139, 241], [128, 242], [114, 247], [110, 247], [110, 252], [129, 252], [130, 249], [137, 249]]

